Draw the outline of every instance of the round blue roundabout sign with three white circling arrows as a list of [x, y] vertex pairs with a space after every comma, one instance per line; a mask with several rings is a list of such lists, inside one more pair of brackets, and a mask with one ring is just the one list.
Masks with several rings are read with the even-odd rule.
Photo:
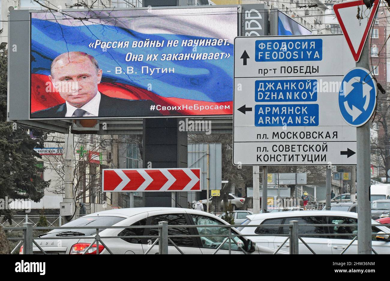
[[377, 93], [370, 71], [359, 67], [348, 71], [339, 91], [339, 108], [343, 119], [355, 127], [367, 123], [374, 112]]

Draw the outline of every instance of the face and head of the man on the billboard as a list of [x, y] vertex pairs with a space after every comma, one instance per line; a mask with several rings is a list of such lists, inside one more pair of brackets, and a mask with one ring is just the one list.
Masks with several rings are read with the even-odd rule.
[[101, 75], [88, 57], [71, 55], [55, 62], [49, 78], [64, 100], [82, 107], [96, 96]]

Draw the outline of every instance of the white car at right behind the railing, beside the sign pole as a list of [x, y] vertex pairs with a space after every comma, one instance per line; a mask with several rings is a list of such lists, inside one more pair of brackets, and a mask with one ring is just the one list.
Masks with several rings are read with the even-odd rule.
[[[253, 227], [253, 228], [241, 228], [238, 230], [245, 234], [256, 243], [264, 247], [270, 247], [277, 249], [287, 238], [287, 236], [272, 236], [272, 234], [289, 234], [290, 221], [296, 220], [299, 224], [334, 224], [334, 226], [299, 226], [300, 237], [307, 243], [310, 248], [316, 254], [340, 254], [347, 245], [354, 238], [357, 233], [356, 226], [337, 226], [338, 224], [357, 224], [358, 214], [353, 212], [342, 211], [293, 211], [293, 212], [275, 212], [275, 213], [260, 213], [255, 215], [248, 215], [248, 220], [241, 225], [273, 225], [273, 224], [285, 224], [286, 226], [265, 226], [265, 227]], [[373, 233], [383, 232], [390, 233], [390, 229], [381, 226], [379, 222], [371, 220], [372, 224], [378, 224], [372, 227]], [[306, 234], [345, 234], [350, 233], [351, 236], [335, 235], [335, 236], [305, 236]], [[253, 234], [268, 234], [271, 236], [250, 236]], [[388, 236], [383, 235], [385, 238], [376, 238], [376, 235], [372, 235], [372, 248], [378, 254], [390, 254], [390, 239]], [[289, 250], [289, 241], [287, 241], [282, 247], [284, 251]], [[310, 250], [299, 240], [299, 253], [300, 254], [312, 254]], [[344, 254], [357, 254], [358, 253], [358, 241], [354, 241], [353, 244], [346, 250]]]

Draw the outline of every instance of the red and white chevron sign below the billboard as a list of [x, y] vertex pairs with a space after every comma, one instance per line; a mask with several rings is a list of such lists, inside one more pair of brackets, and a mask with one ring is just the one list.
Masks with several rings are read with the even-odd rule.
[[103, 192], [201, 191], [199, 168], [103, 169]]

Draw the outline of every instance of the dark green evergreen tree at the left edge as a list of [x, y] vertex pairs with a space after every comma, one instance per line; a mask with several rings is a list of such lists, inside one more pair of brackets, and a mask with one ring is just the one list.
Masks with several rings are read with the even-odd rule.
[[[28, 93], [26, 93], [28, 98]], [[41, 132], [42, 134], [42, 132]], [[0, 50], [0, 199], [31, 199], [38, 202], [49, 181], [41, 178], [37, 167], [41, 158], [34, 148], [43, 147], [28, 135], [28, 128], [7, 122], [7, 50]], [[8, 206], [8, 202], [4, 202]], [[2, 208], [0, 215], [11, 220], [10, 210]]]

